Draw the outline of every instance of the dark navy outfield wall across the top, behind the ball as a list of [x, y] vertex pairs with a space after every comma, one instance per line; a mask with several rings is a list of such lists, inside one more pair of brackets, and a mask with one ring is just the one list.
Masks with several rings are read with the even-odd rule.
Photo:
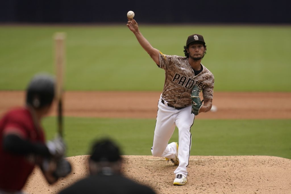
[[291, 23], [290, 1], [0, 1], [0, 22]]

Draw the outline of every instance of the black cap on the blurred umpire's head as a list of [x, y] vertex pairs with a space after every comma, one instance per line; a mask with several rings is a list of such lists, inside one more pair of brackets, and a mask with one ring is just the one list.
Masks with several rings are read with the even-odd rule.
[[95, 162], [116, 162], [121, 159], [120, 150], [112, 140], [102, 139], [94, 143], [90, 159]]

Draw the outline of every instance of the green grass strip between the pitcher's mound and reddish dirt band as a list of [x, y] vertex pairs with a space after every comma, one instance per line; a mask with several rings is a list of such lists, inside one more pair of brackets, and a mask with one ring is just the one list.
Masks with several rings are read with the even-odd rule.
[[[47, 139], [56, 118], [43, 122]], [[68, 156], [89, 154], [94, 140], [110, 137], [124, 155], [151, 155], [154, 119], [65, 118]], [[267, 155], [291, 159], [291, 120], [195, 120], [191, 155]], [[170, 142], [178, 141], [176, 129]]]

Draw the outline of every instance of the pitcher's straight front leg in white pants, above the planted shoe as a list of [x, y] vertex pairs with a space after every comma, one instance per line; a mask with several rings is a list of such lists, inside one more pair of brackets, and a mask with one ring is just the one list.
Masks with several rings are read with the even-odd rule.
[[191, 106], [181, 109], [178, 113], [175, 123], [179, 131], [179, 149], [178, 158], [180, 164], [174, 171], [175, 175], [182, 174], [187, 177], [187, 166], [189, 165], [189, 157], [191, 150], [191, 126], [194, 123], [195, 115], [191, 114]]

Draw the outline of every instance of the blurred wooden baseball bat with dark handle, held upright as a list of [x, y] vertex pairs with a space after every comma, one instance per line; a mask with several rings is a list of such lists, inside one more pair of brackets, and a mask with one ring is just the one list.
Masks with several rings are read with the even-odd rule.
[[57, 132], [63, 137], [63, 80], [65, 66], [65, 33], [55, 33], [55, 69], [56, 69], [56, 102]]

